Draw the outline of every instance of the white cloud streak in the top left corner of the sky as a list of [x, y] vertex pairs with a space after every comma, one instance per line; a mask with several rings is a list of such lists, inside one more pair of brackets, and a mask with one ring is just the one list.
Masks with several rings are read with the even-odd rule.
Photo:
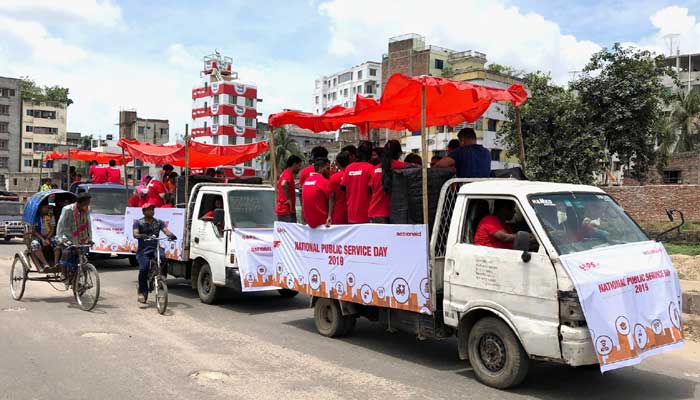
[[82, 48], [52, 36], [38, 22], [0, 16], [0, 32], [25, 43], [37, 62], [67, 65], [82, 61], [88, 55]]

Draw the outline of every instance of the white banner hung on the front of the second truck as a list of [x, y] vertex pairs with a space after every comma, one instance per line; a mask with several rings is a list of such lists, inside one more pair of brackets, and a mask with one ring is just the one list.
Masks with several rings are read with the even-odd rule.
[[231, 232], [236, 251], [241, 288], [244, 292], [280, 289], [272, 267], [272, 229], [236, 228]]

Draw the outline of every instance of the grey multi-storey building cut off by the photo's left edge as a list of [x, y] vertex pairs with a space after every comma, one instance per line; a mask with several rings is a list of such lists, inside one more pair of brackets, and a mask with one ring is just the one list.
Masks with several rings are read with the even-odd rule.
[[22, 121], [20, 80], [0, 77], [0, 187], [7, 174], [19, 172]]

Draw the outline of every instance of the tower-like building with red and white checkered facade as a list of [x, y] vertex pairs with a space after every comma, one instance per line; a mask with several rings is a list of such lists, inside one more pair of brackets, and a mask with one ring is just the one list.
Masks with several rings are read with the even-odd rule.
[[[257, 137], [258, 89], [239, 82], [231, 57], [218, 52], [204, 57], [202, 83], [192, 89], [192, 140], [218, 145], [253, 143]], [[261, 163], [222, 166], [228, 176], [256, 176]]]

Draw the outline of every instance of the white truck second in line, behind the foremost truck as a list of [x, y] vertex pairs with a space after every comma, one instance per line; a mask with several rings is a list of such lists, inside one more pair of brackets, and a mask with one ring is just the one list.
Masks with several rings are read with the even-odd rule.
[[[272, 229], [274, 190], [267, 185], [200, 183], [191, 191], [185, 219], [183, 261], [168, 262], [168, 273], [189, 279], [206, 304], [215, 303], [223, 288], [241, 292], [241, 276], [232, 230]], [[217, 208], [220, 204], [222, 208]], [[208, 212], [213, 218], [204, 218]], [[283, 297], [295, 291], [280, 289]]]

